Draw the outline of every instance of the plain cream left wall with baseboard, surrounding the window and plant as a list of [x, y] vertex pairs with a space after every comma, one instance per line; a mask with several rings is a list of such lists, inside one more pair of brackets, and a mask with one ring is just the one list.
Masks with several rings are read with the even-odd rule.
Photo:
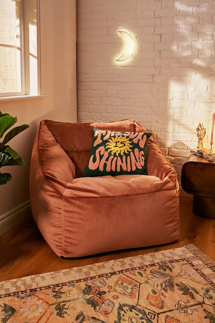
[[0, 101], [3, 113], [17, 116], [30, 128], [10, 141], [26, 166], [3, 167], [12, 180], [0, 186], [0, 235], [30, 214], [29, 168], [39, 123], [44, 119], [77, 122], [75, 0], [41, 0], [41, 89], [44, 97]]

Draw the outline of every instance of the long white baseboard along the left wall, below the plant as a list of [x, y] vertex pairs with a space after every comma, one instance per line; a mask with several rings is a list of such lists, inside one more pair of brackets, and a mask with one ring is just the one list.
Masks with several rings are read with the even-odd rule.
[[13, 210], [0, 215], [0, 235], [12, 229], [31, 215], [30, 200], [15, 207]]

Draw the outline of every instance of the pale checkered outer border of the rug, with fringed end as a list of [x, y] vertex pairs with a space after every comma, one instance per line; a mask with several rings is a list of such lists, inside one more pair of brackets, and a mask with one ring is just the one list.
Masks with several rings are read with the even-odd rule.
[[[195, 245], [158, 251], [146, 255], [132, 256], [128, 258], [110, 260], [83, 267], [74, 267], [56, 272], [49, 272], [39, 275], [26, 276], [0, 282], [0, 298], [13, 296], [17, 293], [28, 293], [31, 289], [40, 290], [56, 284], [65, 284], [73, 280], [81, 281], [96, 278], [100, 275], [126, 271], [153, 265], [188, 258], [210, 281], [215, 283], [215, 262], [203, 254]], [[138, 269], [138, 268], [137, 268]]]

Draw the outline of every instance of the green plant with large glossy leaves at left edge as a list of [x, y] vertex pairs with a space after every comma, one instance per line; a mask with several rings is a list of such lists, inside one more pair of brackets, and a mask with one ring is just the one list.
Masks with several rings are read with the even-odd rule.
[[[5, 132], [9, 130], [15, 123], [17, 118], [11, 116], [8, 113], [2, 113], [0, 111], [0, 139], [3, 137]], [[13, 139], [20, 132], [27, 129], [29, 125], [23, 124], [21, 126], [11, 129], [5, 134], [4, 139], [0, 142], [0, 168], [3, 166], [23, 166], [25, 165], [24, 160], [20, 155], [13, 150], [10, 146], [6, 145], [11, 139]], [[0, 185], [4, 185], [11, 180], [10, 173], [0, 172]]]

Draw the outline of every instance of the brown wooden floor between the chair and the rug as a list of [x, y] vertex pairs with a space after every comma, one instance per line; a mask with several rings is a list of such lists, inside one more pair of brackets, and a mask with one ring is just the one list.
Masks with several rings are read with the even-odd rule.
[[85, 266], [112, 259], [194, 244], [215, 261], [215, 219], [193, 214], [192, 200], [180, 198], [181, 236], [170, 244], [62, 259], [47, 245], [32, 218], [0, 237], [0, 281]]

